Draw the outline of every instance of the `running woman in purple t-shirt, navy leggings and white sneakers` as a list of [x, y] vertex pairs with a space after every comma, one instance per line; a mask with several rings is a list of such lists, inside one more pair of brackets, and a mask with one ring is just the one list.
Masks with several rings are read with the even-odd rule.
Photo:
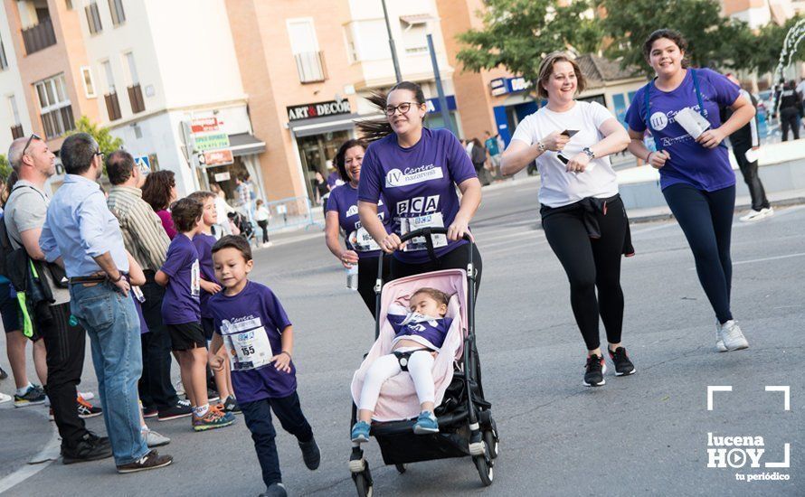
[[[737, 351], [749, 343], [730, 310], [735, 174], [724, 139], [754, 117], [754, 107], [715, 70], [688, 68], [686, 50], [685, 38], [665, 29], [651, 33], [643, 44], [643, 55], [657, 78], [632, 98], [626, 114], [629, 150], [659, 170], [662, 193], [685, 232], [699, 282], [715, 311], [716, 350]], [[722, 123], [719, 109], [725, 107], [733, 115]], [[682, 127], [683, 113], [702, 121], [706, 130]], [[656, 152], [643, 144], [647, 129]]]

